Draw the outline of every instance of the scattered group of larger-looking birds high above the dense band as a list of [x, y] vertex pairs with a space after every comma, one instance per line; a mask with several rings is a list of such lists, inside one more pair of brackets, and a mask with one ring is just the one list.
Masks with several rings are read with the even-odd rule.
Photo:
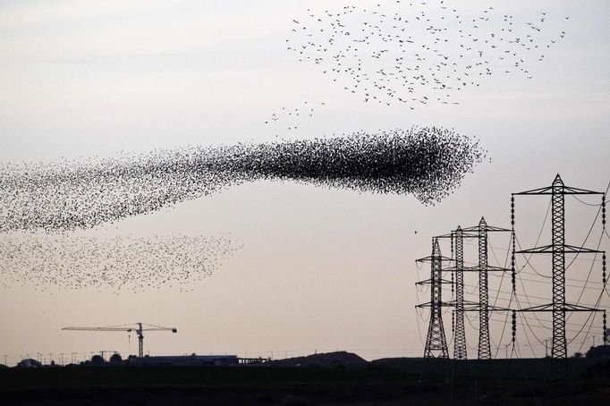
[[494, 7], [466, 15], [448, 3], [402, 0], [338, 12], [308, 10], [292, 20], [286, 46], [364, 102], [414, 109], [459, 104], [453, 97], [460, 90], [476, 88], [492, 74], [531, 79], [532, 64], [565, 36], [549, 28], [547, 12], [518, 21]]

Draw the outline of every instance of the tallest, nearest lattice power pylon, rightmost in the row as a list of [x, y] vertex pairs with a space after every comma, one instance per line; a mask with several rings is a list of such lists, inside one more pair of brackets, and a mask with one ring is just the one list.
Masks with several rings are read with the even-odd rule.
[[[553, 338], [551, 341], [551, 358], [566, 359], [568, 355], [565, 339], [565, 313], [572, 311], [603, 311], [604, 331], [606, 331], [606, 311], [602, 309], [580, 306], [565, 301], [565, 254], [603, 254], [603, 283], [606, 286], [606, 252], [576, 247], [565, 243], [565, 195], [602, 195], [602, 226], [606, 228], [606, 194], [599, 191], [584, 190], [565, 186], [559, 174], [551, 186], [544, 188], [513, 193], [511, 198], [512, 216], [514, 216], [515, 196], [550, 195], [552, 210], [552, 242], [550, 245], [536, 247], [529, 250], [516, 251], [518, 254], [551, 254], [552, 264], [552, 293], [553, 300], [549, 304], [533, 306], [520, 311], [541, 311], [553, 314]], [[565, 366], [567, 367], [567, 365]]]

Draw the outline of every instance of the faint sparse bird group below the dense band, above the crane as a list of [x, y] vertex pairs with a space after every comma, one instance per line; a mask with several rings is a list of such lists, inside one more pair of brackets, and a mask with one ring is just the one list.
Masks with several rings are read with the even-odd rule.
[[176, 234], [106, 239], [74, 233], [20, 234], [0, 238], [3, 286], [28, 285], [40, 291], [51, 286], [115, 293], [161, 287], [188, 291], [239, 249], [224, 238]]

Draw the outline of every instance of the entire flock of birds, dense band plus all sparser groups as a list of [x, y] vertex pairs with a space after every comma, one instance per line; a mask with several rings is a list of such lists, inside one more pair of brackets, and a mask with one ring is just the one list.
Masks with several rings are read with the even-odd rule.
[[[394, 5], [394, 9], [391, 9]], [[364, 102], [411, 109], [451, 97], [482, 78], [518, 72], [565, 35], [546, 36], [546, 13], [516, 21], [493, 7], [474, 17], [444, 1], [396, 1], [294, 19], [288, 50]], [[266, 123], [310, 118], [325, 103], [284, 107]], [[156, 150], [85, 161], [0, 165], [0, 271], [4, 286], [96, 287], [138, 292], [190, 288], [237, 250], [231, 241], [81, 237], [71, 233], [154, 213], [242, 182], [279, 180], [360, 192], [410, 194], [434, 204], [485, 156], [453, 130], [357, 132], [330, 139]], [[22, 233], [26, 232], [26, 233]]]

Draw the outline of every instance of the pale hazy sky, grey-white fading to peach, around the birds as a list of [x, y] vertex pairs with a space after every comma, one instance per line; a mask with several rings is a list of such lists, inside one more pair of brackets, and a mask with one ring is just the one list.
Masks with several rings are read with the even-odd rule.
[[[460, 105], [428, 104], [411, 110], [363, 103], [319, 66], [300, 63], [286, 50], [293, 19], [325, 10], [338, 12], [347, 4], [382, 4], [405, 15], [412, 13], [407, 6], [411, 2], [395, 3], [2, 2], [3, 163], [269, 141], [277, 140], [276, 135], [313, 139], [412, 125], [444, 126], [477, 137], [490, 160], [476, 167], [461, 188], [436, 207], [422, 206], [411, 196], [256, 182], [81, 232], [223, 235], [243, 248], [214, 275], [193, 286], [192, 292], [165, 288], [117, 296], [94, 289], [2, 289], [0, 355], [7, 354], [10, 363], [20, 354], [37, 352], [54, 352], [55, 358], [59, 352], [72, 351], [88, 357], [89, 351], [99, 350], [136, 353], [135, 337], [130, 347], [127, 334], [62, 332], [60, 328], [142, 321], [178, 328], [178, 334], [148, 334], [145, 350], [151, 354], [270, 356], [273, 351], [277, 358], [347, 350], [368, 359], [419, 356], [423, 352], [420, 339], [425, 340], [428, 325], [414, 306], [429, 300], [429, 293], [418, 294], [414, 283], [428, 277], [429, 268], [418, 273], [414, 260], [429, 255], [433, 235], [447, 233], [458, 224], [478, 224], [481, 216], [488, 224], [510, 227], [511, 192], [549, 185], [556, 173], [568, 185], [606, 190], [610, 181], [610, 3], [445, 0], [465, 14], [493, 6], [496, 13], [511, 14], [521, 23], [545, 12], [548, 30], [566, 33], [546, 51], [543, 61], [532, 63], [533, 79], [498, 72], [484, 78], [479, 88], [456, 96]], [[423, 38], [421, 32], [410, 35]], [[302, 106], [305, 101], [317, 106], [316, 114], [301, 119], [298, 130], [265, 124], [282, 107]], [[566, 239], [580, 245], [596, 207], [572, 198], [566, 201]], [[598, 203], [599, 199], [587, 201]], [[548, 200], [542, 197], [517, 199], [516, 228], [524, 248], [535, 243], [547, 206]], [[540, 245], [550, 243], [547, 225]], [[597, 246], [599, 233], [597, 226], [589, 237], [590, 247]], [[504, 263], [508, 238], [494, 237], [490, 244]], [[609, 245], [607, 239], [602, 241], [602, 249]], [[475, 260], [474, 246], [466, 247], [467, 259]], [[442, 249], [449, 253], [448, 244]], [[549, 275], [549, 258], [535, 261], [537, 270]], [[493, 257], [490, 262], [495, 262]], [[567, 277], [587, 279], [590, 264], [575, 261]], [[600, 267], [598, 260], [591, 274], [597, 283]], [[532, 304], [550, 301], [550, 285], [539, 283], [543, 278], [522, 276], [531, 279], [523, 281], [530, 295], [547, 298], [530, 298]], [[474, 275], [467, 275], [466, 283], [467, 292], [476, 293]], [[577, 298], [582, 283], [570, 283], [568, 298]], [[491, 278], [490, 284], [493, 298], [499, 278]], [[505, 278], [500, 290], [509, 289], [510, 278]], [[585, 290], [581, 302], [594, 303], [598, 293]], [[448, 291], [445, 294], [450, 296]], [[467, 298], [475, 300], [476, 295], [467, 294]], [[602, 303], [608, 305], [607, 295]], [[422, 316], [428, 317], [427, 313]], [[476, 317], [471, 317], [472, 325], [478, 326]], [[498, 318], [502, 316], [492, 317]], [[548, 320], [547, 315], [539, 318]], [[568, 326], [569, 338], [575, 334], [572, 330], [580, 330], [577, 318], [570, 320], [575, 325]], [[593, 335], [597, 343], [601, 341], [601, 317], [596, 320], [589, 336], [575, 338], [570, 353], [578, 351], [585, 339], [588, 348]], [[533, 332], [528, 337], [522, 334], [527, 327], [519, 326], [523, 356], [531, 356], [531, 348], [538, 356], [544, 354], [538, 340], [549, 338], [550, 331], [533, 327], [536, 323], [531, 321]], [[495, 351], [509, 343], [509, 337], [506, 333], [500, 340], [502, 323], [493, 321], [491, 326]], [[476, 332], [468, 323], [466, 327], [469, 356], [473, 356]], [[451, 337], [450, 313], [445, 315], [445, 332]]]

